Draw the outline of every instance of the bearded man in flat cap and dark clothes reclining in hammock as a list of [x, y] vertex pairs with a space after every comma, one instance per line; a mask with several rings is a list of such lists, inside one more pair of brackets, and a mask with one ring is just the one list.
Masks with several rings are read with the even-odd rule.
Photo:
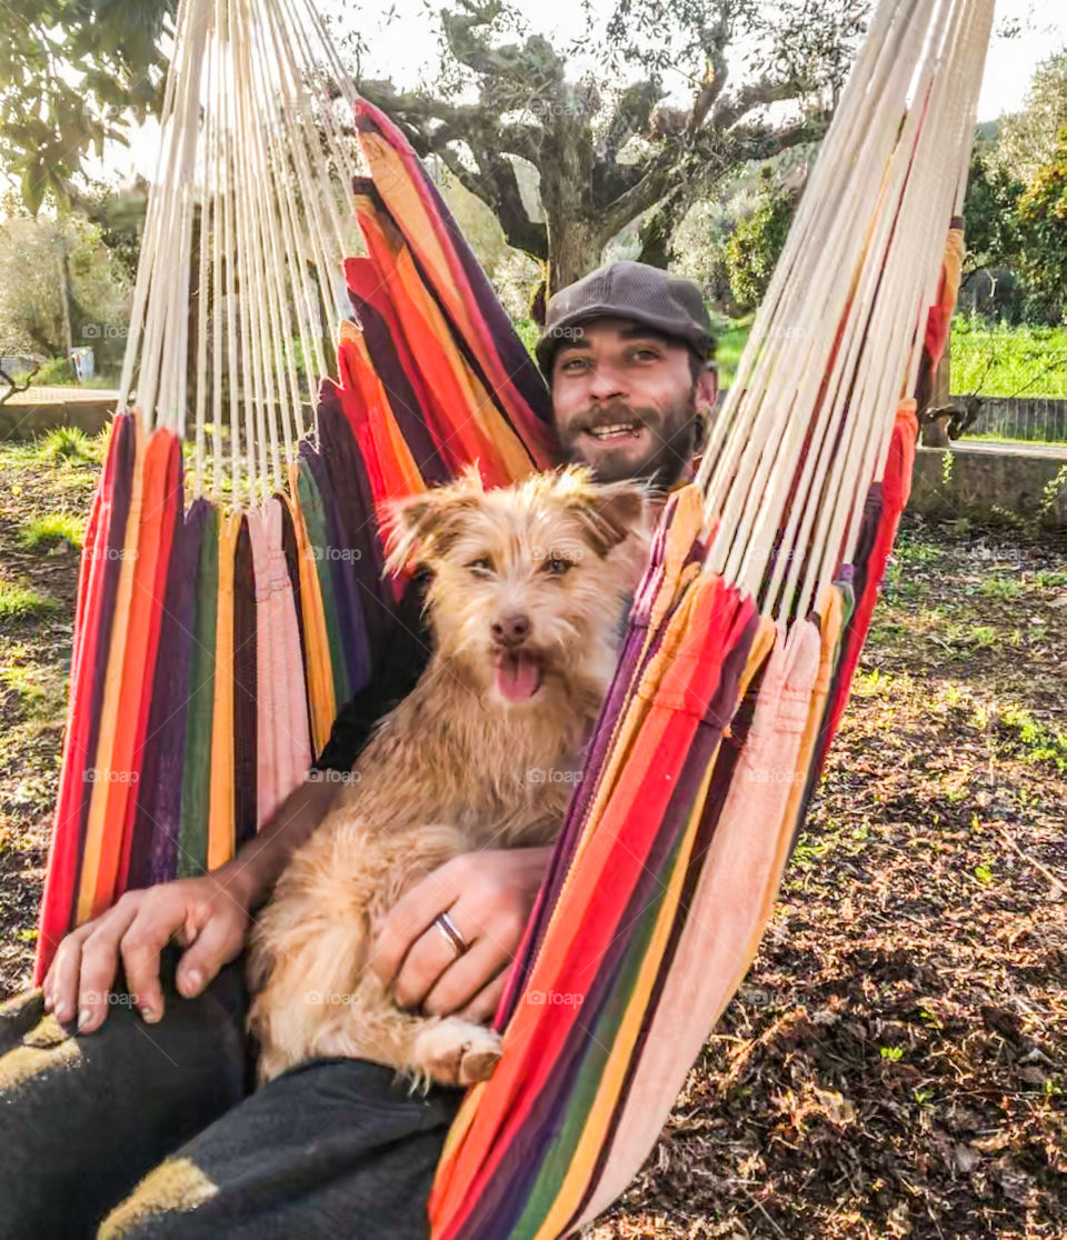
[[[716, 398], [712, 347], [690, 280], [622, 262], [560, 291], [537, 361], [563, 456], [605, 481], [645, 477], [661, 491], [686, 481]], [[426, 665], [418, 582], [401, 619], [382, 671], [342, 709], [318, 777], [227, 866], [127, 893], [68, 935], [45, 982], [62, 1029], [43, 1021], [26, 1038], [25, 1011], [9, 1017], [6, 1042], [0, 1027], [0, 1050], [22, 1043], [0, 1058], [0, 1238], [92, 1235], [164, 1158], [102, 1235], [423, 1234], [459, 1092], [411, 1097], [388, 1069], [359, 1060], [305, 1064], [251, 1092], [238, 959], [249, 918], [329, 808], [330, 776], [351, 770]], [[489, 1021], [548, 852], [459, 857], [412, 888], [371, 959], [397, 1002]], [[479, 940], [474, 973], [467, 950]], [[139, 1017], [117, 1002], [127, 996]]]

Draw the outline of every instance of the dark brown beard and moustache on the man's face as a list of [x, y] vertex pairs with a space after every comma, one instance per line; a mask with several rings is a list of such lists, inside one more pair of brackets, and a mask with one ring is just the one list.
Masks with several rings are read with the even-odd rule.
[[[599, 443], [591, 432], [612, 423], [633, 424], [627, 436]], [[644, 480], [669, 491], [685, 474], [703, 438], [696, 409], [696, 386], [685, 401], [666, 409], [640, 409], [620, 401], [596, 405], [558, 428], [568, 464], [588, 465], [598, 482]]]

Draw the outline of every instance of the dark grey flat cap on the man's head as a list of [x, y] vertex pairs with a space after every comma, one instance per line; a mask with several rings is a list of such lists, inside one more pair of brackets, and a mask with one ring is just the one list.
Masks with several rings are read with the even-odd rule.
[[591, 319], [629, 319], [711, 357], [715, 336], [700, 285], [659, 267], [619, 259], [598, 267], [560, 289], [548, 301], [545, 327], [535, 347], [537, 365], [550, 379], [556, 350]]

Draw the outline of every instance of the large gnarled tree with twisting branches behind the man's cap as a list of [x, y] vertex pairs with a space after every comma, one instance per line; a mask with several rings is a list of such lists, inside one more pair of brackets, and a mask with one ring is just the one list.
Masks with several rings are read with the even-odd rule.
[[[675, 227], [718, 180], [820, 136], [866, 11], [866, 0], [617, 0], [603, 36], [591, 25], [581, 41], [586, 53], [596, 45], [604, 73], [571, 81], [577, 48], [527, 32], [509, 0], [460, 0], [440, 14], [432, 88], [364, 76], [359, 87], [491, 207], [555, 290], [635, 221], [639, 257], [665, 264]], [[504, 42], [514, 31], [522, 41]], [[761, 51], [734, 86], [741, 35]], [[689, 83], [681, 107], [670, 105], [667, 71]], [[522, 193], [520, 164], [536, 170], [543, 218]]]

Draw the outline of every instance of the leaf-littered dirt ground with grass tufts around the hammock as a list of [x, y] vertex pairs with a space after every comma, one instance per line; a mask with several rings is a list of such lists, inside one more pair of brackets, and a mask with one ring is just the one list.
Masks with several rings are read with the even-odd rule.
[[[78, 564], [27, 528], [86, 512], [97, 455], [0, 449], [0, 996]], [[906, 522], [756, 965], [592, 1240], [1067, 1236], [1065, 639], [1062, 541]]]

